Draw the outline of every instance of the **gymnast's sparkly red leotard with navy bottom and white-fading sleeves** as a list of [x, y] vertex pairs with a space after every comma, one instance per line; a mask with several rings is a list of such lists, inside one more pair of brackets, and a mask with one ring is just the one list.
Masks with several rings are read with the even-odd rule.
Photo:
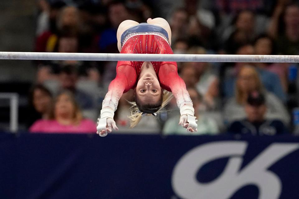
[[[168, 42], [167, 32], [163, 28], [143, 23], [130, 29], [122, 35], [120, 53], [173, 54]], [[185, 82], [178, 76], [177, 63], [151, 63], [161, 87], [173, 93], [178, 107], [180, 108], [184, 104], [192, 104]], [[142, 64], [142, 61], [117, 62], [116, 77], [109, 85], [102, 107], [111, 107], [114, 111], [117, 109], [121, 95], [136, 87]]]

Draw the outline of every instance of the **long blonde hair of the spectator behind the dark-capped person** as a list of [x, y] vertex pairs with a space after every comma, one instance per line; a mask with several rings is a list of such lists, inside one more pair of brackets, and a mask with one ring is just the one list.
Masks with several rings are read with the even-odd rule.
[[259, 73], [255, 70], [255, 68], [251, 65], [244, 65], [241, 67], [239, 73], [238, 73], [238, 77], [237, 77], [237, 81], [236, 81], [236, 89], [235, 89], [235, 94], [236, 94], [236, 100], [239, 104], [243, 104], [244, 100], [246, 100], [247, 97], [247, 93], [245, 93], [241, 88], [240, 88], [240, 73], [245, 70], [245, 69], [249, 69], [249, 72], [251, 75], [253, 75], [254, 81], [256, 83], [256, 87], [254, 88], [255, 91], [261, 92], [263, 89], [263, 84], [259, 78]]

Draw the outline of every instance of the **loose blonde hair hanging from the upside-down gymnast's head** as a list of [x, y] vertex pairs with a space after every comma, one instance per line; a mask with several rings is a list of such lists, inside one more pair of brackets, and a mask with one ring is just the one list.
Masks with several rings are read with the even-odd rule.
[[[155, 113], [159, 114], [164, 111], [164, 107], [170, 102], [172, 99], [173, 95], [171, 92], [167, 90], [163, 90], [163, 96], [162, 96], [162, 104], [161, 108], [156, 111]], [[128, 116], [130, 119], [130, 128], [135, 127], [141, 120], [142, 118], [142, 113], [140, 113], [136, 102], [129, 102], [131, 104], [130, 111], [131, 111], [131, 116]], [[151, 114], [146, 114], [147, 116], [150, 116]]]

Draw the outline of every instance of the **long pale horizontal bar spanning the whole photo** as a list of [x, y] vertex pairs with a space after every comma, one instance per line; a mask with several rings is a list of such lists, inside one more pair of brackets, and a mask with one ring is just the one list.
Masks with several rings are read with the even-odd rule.
[[0, 59], [79, 61], [172, 61], [172, 62], [287, 62], [298, 63], [298, 55], [206, 55], [127, 53], [34, 53], [0, 52]]

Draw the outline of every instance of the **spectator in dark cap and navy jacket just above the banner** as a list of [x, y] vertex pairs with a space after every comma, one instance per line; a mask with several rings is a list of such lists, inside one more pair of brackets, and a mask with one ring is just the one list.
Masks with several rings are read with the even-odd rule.
[[265, 118], [267, 105], [262, 93], [254, 91], [249, 94], [245, 104], [246, 118], [233, 122], [228, 128], [229, 133], [251, 135], [278, 135], [288, 133], [280, 120]]

